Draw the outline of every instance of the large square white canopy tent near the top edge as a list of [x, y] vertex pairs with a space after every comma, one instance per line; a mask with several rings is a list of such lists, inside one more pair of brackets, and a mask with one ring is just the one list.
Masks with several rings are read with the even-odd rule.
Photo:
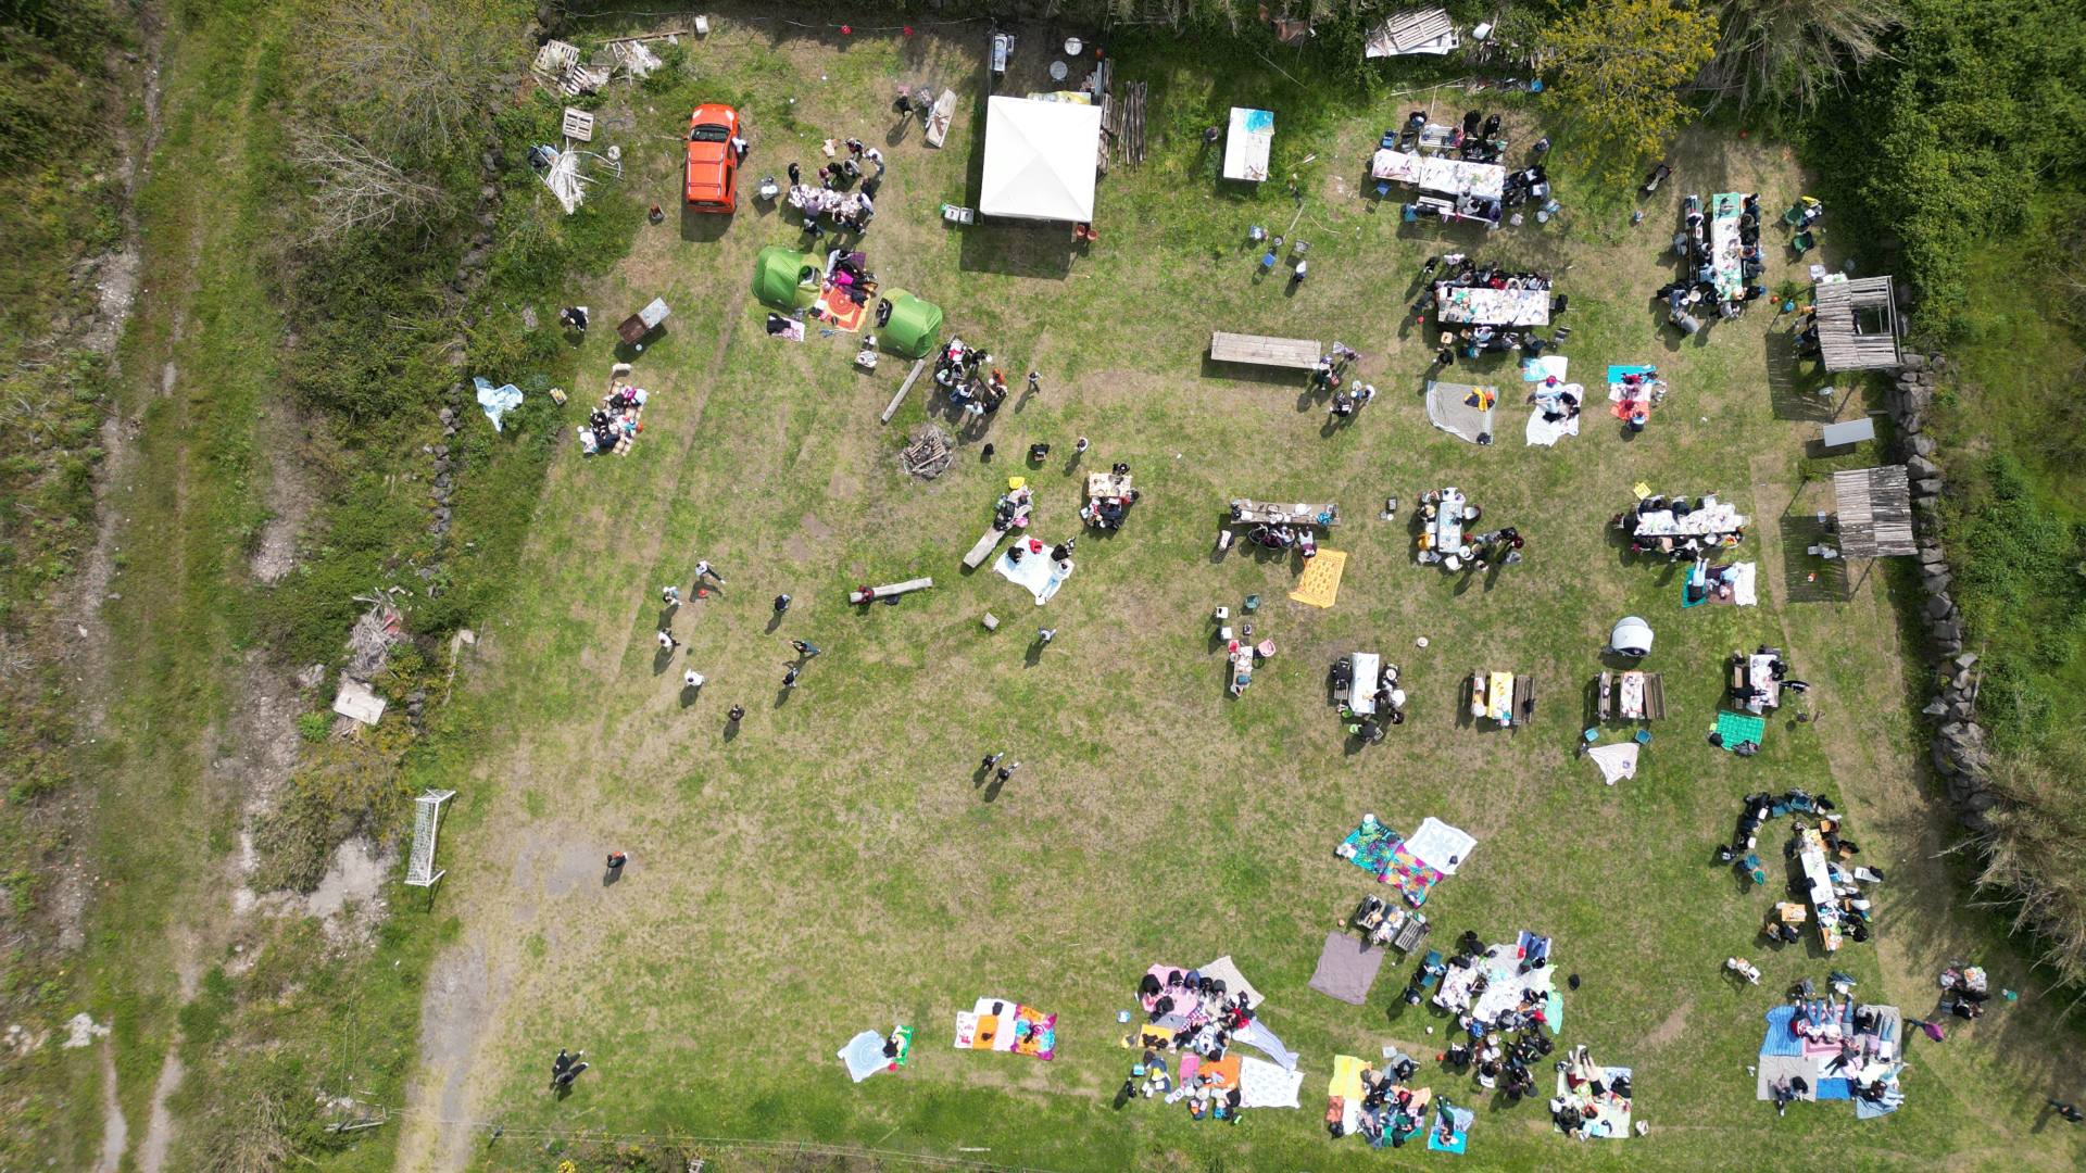
[[1093, 221], [1101, 109], [995, 96], [985, 104], [978, 211], [1010, 219]]

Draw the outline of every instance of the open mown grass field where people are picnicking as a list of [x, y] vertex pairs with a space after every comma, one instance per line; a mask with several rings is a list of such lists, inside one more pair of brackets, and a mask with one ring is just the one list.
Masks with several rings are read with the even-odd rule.
[[[1911, 718], [1925, 672], [1896, 605], [1911, 584], [1888, 566], [1813, 580], [1804, 555], [1813, 513], [1829, 509], [1819, 474], [1884, 459], [1869, 447], [1806, 459], [1806, 442], [1834, 411], [1873, 407], [1873, 388], [1842, 384], [1823, 405], [1771, 309], [1685, 342], [1650, 309], [1671, 273], [1679, 194], [1758, 190], [1786, 207], [1802, 190], [1790, 154], [1690, 134], [1631, 228], [1629, 192], [1600, 190], [1560, 138], [1560, 221], [1444, 234], [1358, 198], [1366, 154], [1414, 104], [1460, 113], [1491, 96], [1368, 102], [1302, 90], [1233, 50], [1214, 63], [1195, 46], [1118, 46], [1118, 77], [1151, 81], [1151, 154], [1103, 179], [1101, 242], [1074, 255], [1056, 228], [941, 223], [939, 202], [976, 190], [978, 42], [864, 35], [839, 50], [724, 25], [690, 54], [682, 90], [613, 96], [632, 104], [630, 129], [611, 136], [630, 173], [599, 200], [676, 205], [686, 98], [741, 102], [753, 138], [743, 194], [791, 159], [811, 169], [828, 136], [882, 146], [872, 267], [941, 303], [947, 330], [999, 355], [1016, 384], [1041, 369], [1043, 392], [1010, 401], [939, 480], [903, 476], [895, 453], [926, 422], [924, 384], [878, 426], [903, 361], [864, 376], [849, 365], [853, 336], [814, 330], [799, 346], [763, 334], [753, 255], [797, 230], [751, 200], [728, 225], [670, 217], [645, 230], [599, 286], [542, 290], [544, 319], [580, 298], [611, 324], [651, 296], [674, 317], [636, 359], [653, 399], [634, 451], [582, 461], [563, 447], [511, 605], [480, 632], [442, 718], [480, 726], [488, 749], [453, 783], [436, 906], [461, 933], [428, 983], [401, 1165], [549, 1167], [538, 1135], [816, 1142], [1045, 1169], [1354, 1160], [1360, 1142], [1329, 1142], [1318, 1123], [1331, 1058], [1393, 1042], [1431, 1056], [1446, 1023], [1398, 1004], [1412, 962], [1396, 956], [1366, 1008], [1304, 987], [1325, 931], [1381, 891], [1333, 858], [1375, 812], [1404, 831], [1431, 814], [1477, 835], [1427, 904], [1433, 941], [1554, 935], [1558, 964], [1583, 979], [1560, 1042], [1638, 1073], [1650, 1133], [1575, 1146], [1539, 1102], [1506, 1108], [1429, 1064], [1418, 1083], [1479, 1108], [1475, 1167], [2078, 1167], [2080, 1133], [2042, 1115], [2046, 1092], [2078, 1085], [2061, 1054], [2073, 1035], [1990, 916], [1965, 908], [1942, 856], [1952, 835]], [[1022, 44], [1030, 67], [1041, 44]], [[891, 88], [920, 79], [966, 94], [939, 152], [918, 125], [884, 140]], [[1277, 179], [1258, 192], [1220, 184], [1199, 150], [1199, 127], [1233, 102], [1277, 111]], [[1552, 117], [1527, 100], [1508, 115], [1519, 142]], [[517, 179], [511, 200], [549, 207], [530, 184]], [[1254, 223], [1310, 240], [1306, 286], [1256, 278]], [[1496, 447], [1429, 428], [1431, 346], [1404, 307], [1418, 263], [1441, 250], [1552, 271], [1571, 296], [1564, 353], [1590, 394], [1606, 363], [1667, 374], [1673, 397], [1652, 428], [1625, 438], [1594, 407], [1581, 436], [1527, 449], [1506, 361], [1479, 367], [1506, 390]], [[1781, 261], [1769, 282], [1796, 276]], [[1381, 397], [1327, 430], [1300, 378], [1206, 365], [1212, 328], [1339, 338], [1364, 353]], [[599, 394], [611, 342], [597, 326], [584, 344], [567, 428]], [[1093, 440], [1085, 465], [1129, 461], [1145, 490], [1126, 528], [1085, 536], [1078, 572], [1043, 609], [989, 572], [964, 574], [960, 555], [1010, 474], [1037, 484], [1037, 534], [1078, 530], [1083, 470], [1066, 461], [1078, 434]], [[980, 440], [999, 449], [991, 463]], [[1041, 470], [1022, 465], [1030, 440], [1053, 445]], [[1679, 572], [1610, 541], [1606, 522], [1640, 480], [1723, 493], [1754, 516], [1742, 557], [1761, 566], [1758, 607], [1681, 614]], [[1527, 561], [1475, 578], [1414, 566], [1406, 518], [1385, 524], [1377, 509], [1441, 484], [1462, 486], [1487, 522], [1519, 526]], [[1337, 607], [1291, 603], [1287, 559], [1212, 555], [1239, 495], [1339, 501], [1345, 522], [1325, 541], [1350, 553]], [[697, 557], [728, 589], [674, 616], [686, 653], [668, 664], [653, 643], [659, 586], [686, 591]], [[937, 586], [895, 607], [845, 603], [859, 582], [918, 574]], [[768, 630], [780, 591], [797, 603]], [[1281, 651], [1231, 699], [1208, 616], [1252, 593], [1264, 599], [1256, 635]], [[985, 612], [1003, 620], [997, 632]], [[1573, 741], [1623, 614], [1658, 630], [1650, 666], [1665, 672], [1671, 718], [1638, 779], [1608, 789]], [[1041, 655], [1039, 622], [1060, 632]], [[793, 637], [826, 653], [784, 695]], [[1738, 760], [1702, 735], [1723, 655], [1763, 641], [1815, 683], [1819, 720], [1784, 710], [1765, 751]], [[1398, 662], [1412, 697], [1410, 720], [1366, 749], [1343, 737], [1323, 683], [1356, 647]], [[709, 678], [693, 701], [684, 660]], [[1533, 672], [1535, 722], [1473, 728], [1460, 716], [1473, 666]], [[736, 735], [732, 703], [749, 710]], [[1024, 762], [997, 793], [972, 772], [987, 749]], [[1779, 954], [1754, 943], [1771, 895], [1740, 889], [1711, 852], [1742, 795], [1786, 787], [1840, 799], [1865, 860], [1890, 872], [1873, 943], [1832, 958], [1809, 937]], [[1763, 835], [1769, 854], [1781, 827]], [[634, 860], [613, 887], [607, 849]], [[1252, 1112], [1237, 1129], [1158, 1102], [1112, 1110], [1131, 1060], [1116, 1010], [1133, 1006], [1137, 977], [1216, 954], [1237, 958], [1268, 996], [1266, 1023], [1304, 1054], [1304, 1110]], [[1763, 985], [1729, 983], [1729, 954], [1758, 960]], [[1950, 958], [1984, 960], [2023, 998], [1942, 1046], [1913, 1046], [1905, 1110], [1857, 1123], [1819, 1104], [1777, 1121], [1754, 1102], [1746, 1064], [1781, 987], [1846, 968], [1863, 1000], [1919, 1016]], [[987, 994], [1056, 1010], [1058, 1060], [951, 1050], [953, 1014]], [[851, 1085], [834, 1050], [895, 1021], [918, 1031], [909, 1071]], [[559, 1046], [595, 1062], [565, 1100], [542, 1087]], [[509, 1138], [486, 1146], [476, 1125], [488, 1121]], [[713, 1167], [768, 1160], [726, 1150]]]

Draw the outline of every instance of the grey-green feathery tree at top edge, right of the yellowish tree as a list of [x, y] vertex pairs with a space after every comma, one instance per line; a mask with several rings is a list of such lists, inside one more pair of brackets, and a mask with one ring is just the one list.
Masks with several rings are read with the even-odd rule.
[[1723, 35], [1702, 81], [1740, 109], [1758, 102], [1817, 106], [1850, 69], [1884, 52], [1898, 0], [1721, 0]]

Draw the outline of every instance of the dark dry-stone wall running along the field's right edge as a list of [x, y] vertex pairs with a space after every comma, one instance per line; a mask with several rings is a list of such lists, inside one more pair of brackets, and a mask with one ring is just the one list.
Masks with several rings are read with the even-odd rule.
[[1934, 731], [1934, 774], [1948, 789], [1948, 804], [1971, 831], [1986, 831], [1986, 812], [1998, 804], [1990, 787], [1990, 756], [1986, 731], [1978, 724], [1978, 653], [1963, 651], [1963, 614], [1950, 586], [1955, 572], [1942, 549], [1940, 495], [1942, 470], [1934, 461], [1934, 438], [1927, 436], [1927, 409], [1934, 407], [1934, 378], [1946, 369], [1946, 359], [1907, 355], [1890, 388], [1890, 417], [1898, 424], [1898, 449], [1913, 482], [1913, 532], [1919, 538], [1919, 589], [1925, 595], [1921, 622], [1927, 649], [1942, 680], [1940, 695], [1919, 710], [1938, 722]]

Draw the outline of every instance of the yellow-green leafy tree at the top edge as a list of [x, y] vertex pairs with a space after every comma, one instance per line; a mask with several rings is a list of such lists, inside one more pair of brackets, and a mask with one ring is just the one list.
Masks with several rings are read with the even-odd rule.
[[1679, 88], [1717, 52], [1717, 19], [1685, 0], [1598, 0], [1550, 29], [1558, 98], [1615, 173], [1694, 117]]

